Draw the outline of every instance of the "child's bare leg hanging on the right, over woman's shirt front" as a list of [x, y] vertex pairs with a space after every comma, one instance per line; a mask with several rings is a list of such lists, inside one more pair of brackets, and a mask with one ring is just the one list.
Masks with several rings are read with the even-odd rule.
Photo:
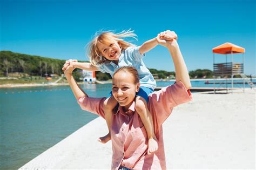
[[158, 149], [157, 138], [154, 134], [152, 115], [147, 108], [146, 100], [143, 97], [136, 97], [135, 108], [140, 116], [140, 119], [142, 119], [142, 123], [144, 124], [147, 131], [147, 138], [149, 139], [149, 149], [147, 149], [147, 153], [151, 154]]

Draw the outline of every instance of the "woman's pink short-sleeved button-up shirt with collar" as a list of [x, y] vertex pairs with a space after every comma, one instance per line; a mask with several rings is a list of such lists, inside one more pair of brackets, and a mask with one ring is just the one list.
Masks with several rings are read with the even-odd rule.
[[[78, 104], [83, 110], [96, 113], [105, 118], [103, 103], [106, 98], [81, 97]], [[158, 150], [147, 154], [147, 133], [134, 102], [128, 112], [118, 107], [112, 116], [112, 169], [124, 166], [131, 169], [166, 169], [162, 124], [171, 114], [173, 107], [192, 99], [190, 90], [186, 90], [181, 81], [149, 96], [149, 108], [158, 139]]]

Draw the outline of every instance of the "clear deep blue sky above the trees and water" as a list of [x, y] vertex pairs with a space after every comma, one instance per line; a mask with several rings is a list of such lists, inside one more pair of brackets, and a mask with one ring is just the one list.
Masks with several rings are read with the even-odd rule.
[[[213, 70], [212, 48], [230, 42], [246, 49], [245, 73], [255, 71], [255, 1], [248, 0], [0, 0], [0, 50], [87, 60], [84, 46], [98, 30], [132, 29], [140, 45], [176, 31], [188, 70]], [[228, 57], [230, 60], [230, 57]], [[147, 67], [174, 71], [168, 51], [146, 53]], [[217, 63], [225, 62], [217, 55]], [[234, 55], [242, 62], [242, 55]]]

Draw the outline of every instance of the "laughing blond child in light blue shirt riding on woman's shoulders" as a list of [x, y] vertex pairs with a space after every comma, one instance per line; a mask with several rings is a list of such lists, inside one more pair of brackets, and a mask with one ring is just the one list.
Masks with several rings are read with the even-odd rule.
[[[168, 30], [169, 31], [169, 30]], [[168, 32], [164, 31], [158, 34], [158, 38], [164, 38], [164, 35]], [[174, 34], [176, 35], [176, 34]], [[147, 40], [141, 46], [135, 46], [129, 42], [126, 42], [122, 38], [132, 37], [135, 38], [133, 31], [122, 31], [120, 33], [113, 32], [103, 32], [96, 36], [88, 46], [90, 63], [78, 63], [77, 60], [66, 61], [62, 70], [66, 67], [72, 65], [73, 67], [89, 70], [89, 71], [102, 71], [108, 72], [113, 76], [114, 71], [122, 66], [134, 66], [138, 70], [140, 78], [140, 88], [137, 93], [135, 101], [135, 109], [140, 115], [142, 122], [145, 126], [147, 132], [147, 138], [149, 139], [148, 153], [158, 149], [157, 139], [154, 134], [154, 127], [152, 121], [152, 115], [147, 108], [148, 96], [153, 92], [156, 87], [156, 81], [154, 80], [150, 71], [146, 68], [142, 58], [143, 54], [150, 51], [158, 45], [157, 37]], [[136, 38], [135, 38], [136, 39]], [[169, 37], [169, 39], [177, 39], [177, 35], [174, 37]], [[129, 87], [124, 87], [129, 88]], [[119, 104], [124, 103], [128, 100], [125, 96], [119, 98]], [[111, 139], [110, 125], [112, 120], [113, 108], [117, 105], [117, 101], [114, 97], [108, 97], [104, 101], [104, 112], [105, 119], [107, 122], [107, 127], [109, 128], [109, 133], [104, 137], [99, 138], [99, 141], [105, 143]]]

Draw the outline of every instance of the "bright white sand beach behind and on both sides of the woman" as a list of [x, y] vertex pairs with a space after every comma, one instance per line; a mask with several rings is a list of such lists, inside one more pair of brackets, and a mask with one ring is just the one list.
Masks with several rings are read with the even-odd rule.
[[[255, 91], [194, 93], [164, 123], [169, 169], [255, 169]], [[21, 169], [110, 169], [111, 142], [102, 118], [80, 128]]]

